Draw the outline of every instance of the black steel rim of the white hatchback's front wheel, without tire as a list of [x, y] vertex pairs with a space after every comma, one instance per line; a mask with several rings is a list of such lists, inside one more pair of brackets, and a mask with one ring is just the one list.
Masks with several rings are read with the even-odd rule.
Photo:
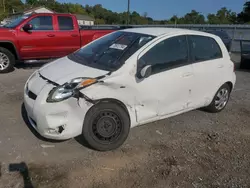
[[92, 131], [98, 141], [112, 142], [116, 140], [122, 130], [119, 116], [112, 111], [101, 112], [94, 120]]

